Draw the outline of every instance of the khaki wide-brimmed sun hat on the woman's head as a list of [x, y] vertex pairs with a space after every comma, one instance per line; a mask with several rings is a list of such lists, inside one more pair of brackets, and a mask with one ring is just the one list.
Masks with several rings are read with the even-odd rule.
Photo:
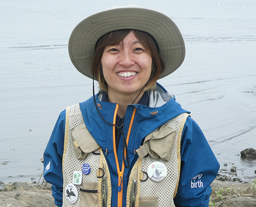
[[91, 65], [97, 40], [108, 32], [121, 29], [141, 30], [155, 38], [165, 64], [159, 79], [182, 64], [185, 43], [173, 20], [154, 10], [127, 6], [91, 15], [75, 27], [69, 39], [69, 55], [76, 69], [92, 79]]

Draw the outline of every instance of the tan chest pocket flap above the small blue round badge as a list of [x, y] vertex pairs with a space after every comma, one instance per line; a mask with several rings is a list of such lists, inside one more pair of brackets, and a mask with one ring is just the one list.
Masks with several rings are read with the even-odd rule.
[[74, 147], [80, 148], [84, 153], [90, 153], [100, 148], [85, 124], [75, 127], [72, 130], [72, 137], [75, 140]]

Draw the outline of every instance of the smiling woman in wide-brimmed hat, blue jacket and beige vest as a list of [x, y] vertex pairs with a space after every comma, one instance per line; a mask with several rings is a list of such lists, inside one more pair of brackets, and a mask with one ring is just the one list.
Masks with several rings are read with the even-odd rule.
[[185, 57], [174, 22], [112, 8], [77, 25], [69, 53], [100, 90], [62, 111], [54, 127], [44, 177], [55, 204], [208, 206], [217, 159], [189, 112], [156, 82]]

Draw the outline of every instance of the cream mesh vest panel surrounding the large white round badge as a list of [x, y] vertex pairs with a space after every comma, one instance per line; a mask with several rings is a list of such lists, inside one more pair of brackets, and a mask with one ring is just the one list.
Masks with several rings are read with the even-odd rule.
[[176, 131], [174, 147], [169, 162], [163, 159], [155, 159], [150, 155], [142, 159], [142, 171], [147, 172], [148, 166], [157, 161], [163, 163], [168, 170], [167, 176], [160, 182], [154, 182], [149, 178], [144, 182], [140, 182], [140, 196], [158, 196], [159, 207], [175, 206], [173, 196], [179, 179], [177, 139], [183, 117], [184, 114], [180, 114], [178, 117], [165, 123], [166, 126]]

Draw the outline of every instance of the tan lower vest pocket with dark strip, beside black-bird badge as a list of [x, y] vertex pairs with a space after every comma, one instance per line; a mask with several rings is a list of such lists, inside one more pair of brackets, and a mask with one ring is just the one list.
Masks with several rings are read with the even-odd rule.
[[98, 206], [98, 182], [84, 182], [80, 186], [80, 207]]

